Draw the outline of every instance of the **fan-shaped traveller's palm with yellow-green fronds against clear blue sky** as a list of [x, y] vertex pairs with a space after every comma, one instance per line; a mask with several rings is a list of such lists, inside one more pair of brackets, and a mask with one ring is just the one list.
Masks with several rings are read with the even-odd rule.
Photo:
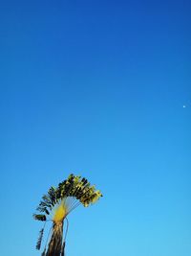
[[[66, 221], [66, 233], [68, 231], [67, 216], [74, 209], [82, 204], [88, 207], [102, 197], [95, 185], [91, 185], [86, 178], [79, 175], [69, 175], [69, 177], [60, 182], [58, 186], [51, 187], [47, 195], [44, 195], [36, 208], [37, 214], [33, 214], [34, 220], [53, 221], [50, 230], [50, 239], [48, 236], [48, 246], [45, 244], [42, 256], [64, 256], [65, 255], [65, 237], [63, 236], [63, 226]], [[40, 230], [36, 249], [40, 249], [43, 239], [44, 227]]]

